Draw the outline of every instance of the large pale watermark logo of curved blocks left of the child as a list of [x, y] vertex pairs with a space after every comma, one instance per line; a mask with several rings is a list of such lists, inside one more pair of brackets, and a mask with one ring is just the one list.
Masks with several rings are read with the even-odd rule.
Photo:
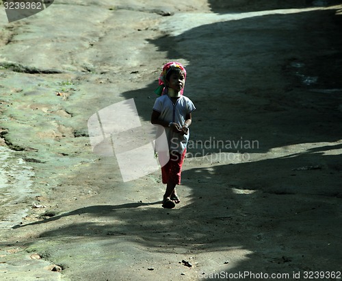
[[124, 182], [153, 173], [170, 159], [159, 158], [158, 162], [156, 153], [168, 155], [165, 130], [159, 125], [142, 127], [134, 99], [114, 103], [93, 114], [88, 119], [88, 133], [95, 154], [116, 156]]

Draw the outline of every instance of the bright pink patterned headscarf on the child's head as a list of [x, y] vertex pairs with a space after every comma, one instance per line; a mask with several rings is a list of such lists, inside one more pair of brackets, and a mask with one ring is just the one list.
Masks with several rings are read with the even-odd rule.
[[168, 90], [166, 86], [169, 86], [170, 80], [176, 79], [176, 76], [183, 78], [183, 85], [181, 90], [179, 90], [181, 95], [183, 95], [187, 71], [185, 71], [184, 66], [179, 62], [168, 62], [163, 66], [163, 71], [161, 71], [161, 74], [159, 75], [159, 87], [155, 90], [155, 93], [157, 95], [165, 95]]

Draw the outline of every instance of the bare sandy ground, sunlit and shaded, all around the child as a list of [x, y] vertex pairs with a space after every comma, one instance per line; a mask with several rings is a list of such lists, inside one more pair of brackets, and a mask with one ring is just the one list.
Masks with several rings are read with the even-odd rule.
[[[1, 280], [341, 280], [341, 10], [61, 0], [8, 23], [1, 5]], [[148, 127], [169, 60], [197, 108], [172, 210], [159, 171], [123, 182], [87, 126], [133, 98]]]

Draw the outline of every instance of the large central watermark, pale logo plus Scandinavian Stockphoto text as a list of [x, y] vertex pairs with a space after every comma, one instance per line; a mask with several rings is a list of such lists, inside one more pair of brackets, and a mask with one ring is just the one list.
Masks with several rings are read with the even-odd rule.
[[[88, 133], [94, 154], [116, 157], [124, 182], [159, 170], [170, 159], [169, 145], [174, 148], [179, 145], [168, 143], [162, 126], [142, 124], [134, 99], [98, 110], [88, 119]], [[215, 136], [205, 140], [191, 138], [186, 154], [190, 161], [246, 162], [250, 160], [247, 151], [259, 149], [258, 140], [243, 137], [237, 140], [221, 140]]]

